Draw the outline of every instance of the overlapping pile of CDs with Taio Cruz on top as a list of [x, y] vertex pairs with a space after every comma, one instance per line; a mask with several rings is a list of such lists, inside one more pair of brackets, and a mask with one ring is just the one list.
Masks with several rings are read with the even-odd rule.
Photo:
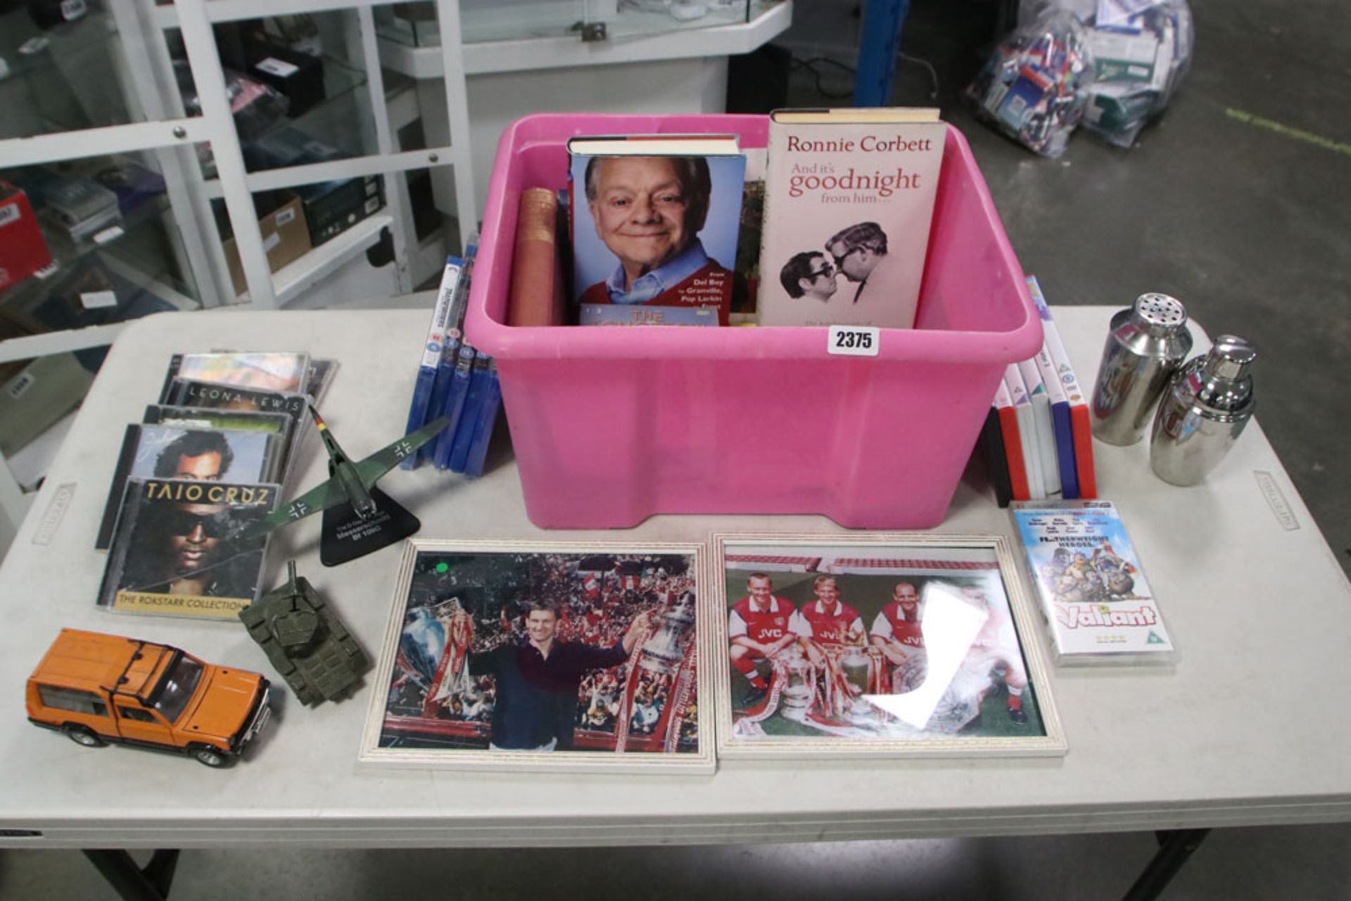
[[266, 536], [336, 362], [304, 353], [177, 354], [158, 403], [127, 426], [95, 547], [99, 605], [234, 619], [254, 601]]

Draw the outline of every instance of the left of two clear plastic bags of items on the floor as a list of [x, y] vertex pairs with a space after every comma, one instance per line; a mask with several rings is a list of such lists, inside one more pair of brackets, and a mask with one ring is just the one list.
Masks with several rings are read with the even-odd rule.
[[1029, 150], [1059, 157], [1093, 84], [1088, 28], [1047, 8], [1005, 38], [966, 89], [977, 113]]

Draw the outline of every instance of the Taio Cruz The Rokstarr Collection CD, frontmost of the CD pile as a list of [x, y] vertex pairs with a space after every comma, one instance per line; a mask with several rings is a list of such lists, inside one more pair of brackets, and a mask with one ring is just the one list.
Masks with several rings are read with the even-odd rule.
[[240, 540], [277, 508], [277, 484], [130, 480], [99, 590], [99, 607], [235, 619], [262, 581], [267, 536]]

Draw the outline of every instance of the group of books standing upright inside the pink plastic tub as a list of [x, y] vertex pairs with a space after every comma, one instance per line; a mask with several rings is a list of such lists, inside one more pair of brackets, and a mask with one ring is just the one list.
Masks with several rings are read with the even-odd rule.
[[511, 326], [912, 328], [947, 124], [780, 109], [735, 134], [578, 135], [521, 193]]

